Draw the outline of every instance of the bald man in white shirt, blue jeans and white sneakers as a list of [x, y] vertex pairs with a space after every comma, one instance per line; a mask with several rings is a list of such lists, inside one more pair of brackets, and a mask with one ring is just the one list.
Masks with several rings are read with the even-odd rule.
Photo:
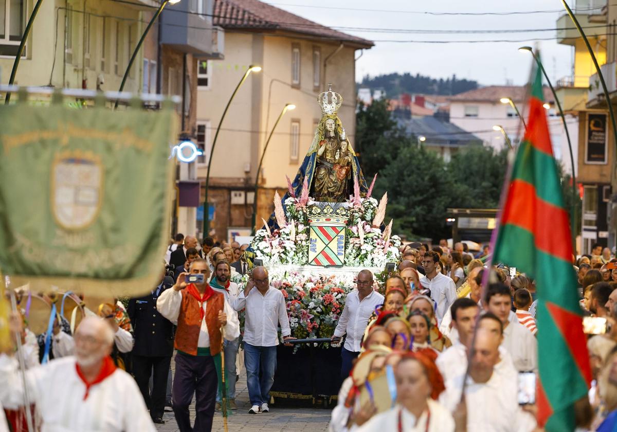
[[255, 267], [238, 296], [235, 309], [246, 308], [244, 323], [244, 367], [251, 400], [250, 414], [269, 412], [270, 389], [276, 370], [278, 325], [283, 340], [292, 338], [283, 293], [270, 286], [268, 270]]

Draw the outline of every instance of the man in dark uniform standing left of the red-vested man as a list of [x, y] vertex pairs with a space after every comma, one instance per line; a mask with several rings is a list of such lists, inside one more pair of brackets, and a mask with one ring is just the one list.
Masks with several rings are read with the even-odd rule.
[[[173, 285], [164, 276], [165, 270], [152, 293], [130, 299], [127, 308], [135, 332], [133, 375], [154, 423], [165, 423], [167, 375], [173, 355], [174, 325], [156, 309], [157, 298]], [[151, 375], [152, 394], [148, 387]]]

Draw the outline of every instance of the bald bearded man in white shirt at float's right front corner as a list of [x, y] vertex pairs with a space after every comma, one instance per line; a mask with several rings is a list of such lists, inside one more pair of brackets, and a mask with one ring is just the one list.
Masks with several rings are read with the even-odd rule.
[[362, 270], [356, 280], [357, 290], [347, 294], [345, 307], [334, 329], [332, 339], [347, 334], [345, 345], [341, 349], [341, 378], [349, 376], [352, 363], [360, 355], [360, 342], [368, 325], [368, 318], [375, 312], [375, 307], [384, 303], [384, 296], [373, 289], [373, 273]]

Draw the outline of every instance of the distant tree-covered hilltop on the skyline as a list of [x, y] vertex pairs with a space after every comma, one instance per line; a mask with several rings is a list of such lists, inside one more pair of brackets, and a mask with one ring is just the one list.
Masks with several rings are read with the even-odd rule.
[[478, 88], [478, 81], [458, 80], [456, 74], [452, 78], [436, 80], [417, 73], [387, 73], [377, 77], [366, 75], [360, 85], [371, 89], [384, 89], [388, 98], [394, 98], [401, 93], [424, 94], [458, 94]]

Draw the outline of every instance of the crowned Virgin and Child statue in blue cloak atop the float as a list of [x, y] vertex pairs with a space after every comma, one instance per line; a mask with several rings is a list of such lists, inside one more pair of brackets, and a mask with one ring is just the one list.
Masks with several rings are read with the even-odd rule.
[[[309, 151], [292, 182], [296, 196], [302, 193], [305, 178], [309, 184], [309, 194], [315, 201], [346, 201], [354, 192], [354, 178], [358, 179], [360, 194], [365, 196], [368, 188], [360, 163], [337, 115], [342, 105], [342, 96], [330, 87], [328, 91], [319, 94], [317, 101], [321, 107], [321, 120]], [[286, 193], [283, 203], [288, 196], [289, 193]], [[275, 226], [275, 218], [270, 217], [268, 225]]]

